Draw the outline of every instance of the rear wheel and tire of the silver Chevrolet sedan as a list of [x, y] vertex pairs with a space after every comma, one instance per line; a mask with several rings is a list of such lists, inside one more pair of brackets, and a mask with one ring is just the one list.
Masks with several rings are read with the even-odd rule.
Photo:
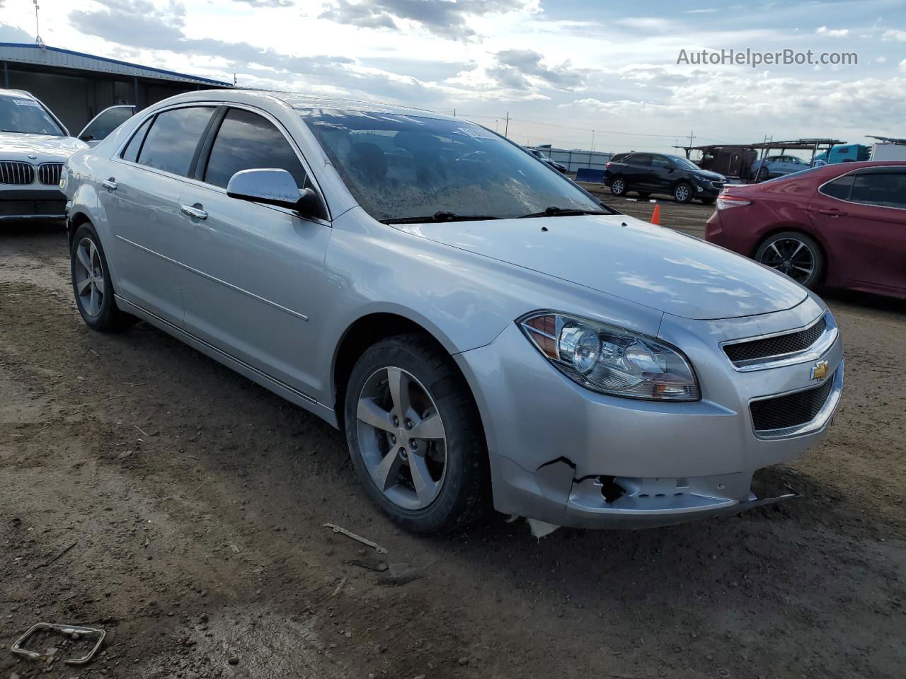
[[113, 299], [113, 282], [101, 239], [91, 223], [79, 226], [72, 236], [70, 273], [75, 304], [92, 330], [124, 330], [137, 318], [120, 309]]

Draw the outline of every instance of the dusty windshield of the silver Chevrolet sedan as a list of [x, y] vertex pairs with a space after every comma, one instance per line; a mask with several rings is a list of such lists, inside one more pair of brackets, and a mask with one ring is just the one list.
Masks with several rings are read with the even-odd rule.
[[378, 220], [606, 209], [524, 149], [471, 123], [363, 111], [301, 115], [352, 196]]

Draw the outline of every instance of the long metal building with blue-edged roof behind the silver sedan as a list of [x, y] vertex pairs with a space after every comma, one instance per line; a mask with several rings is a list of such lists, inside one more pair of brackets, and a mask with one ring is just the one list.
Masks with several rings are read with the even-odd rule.
[[30, 91], [71, 134], [108, 106], [143, 109], [184, 91], [231, 87], [229, 82], [27, 43], [0, 43], [0, 87]]

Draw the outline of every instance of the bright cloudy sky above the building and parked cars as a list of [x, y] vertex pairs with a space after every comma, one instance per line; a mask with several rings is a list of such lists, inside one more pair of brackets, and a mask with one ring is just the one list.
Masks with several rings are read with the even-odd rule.
[[[500, 131], [508, 112], [520, 143], [906, 137], [902, 0], [41, 0], [41, 35], [240, 85], [455, 109]], [[0, 41], [34, 41], [32, 0], [0, 0]], [[677, 63], [747, 48], [858, 64]]]

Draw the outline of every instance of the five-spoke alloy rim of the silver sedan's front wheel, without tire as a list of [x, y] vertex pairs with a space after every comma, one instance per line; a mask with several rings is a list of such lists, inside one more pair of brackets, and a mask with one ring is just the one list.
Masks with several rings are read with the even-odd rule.
[[447, 476], [447, 434], [428, 389], [402, 368], [380, 368], [365, 380], [356, 407], [371, 480], [403, 509], [428, 507]]

